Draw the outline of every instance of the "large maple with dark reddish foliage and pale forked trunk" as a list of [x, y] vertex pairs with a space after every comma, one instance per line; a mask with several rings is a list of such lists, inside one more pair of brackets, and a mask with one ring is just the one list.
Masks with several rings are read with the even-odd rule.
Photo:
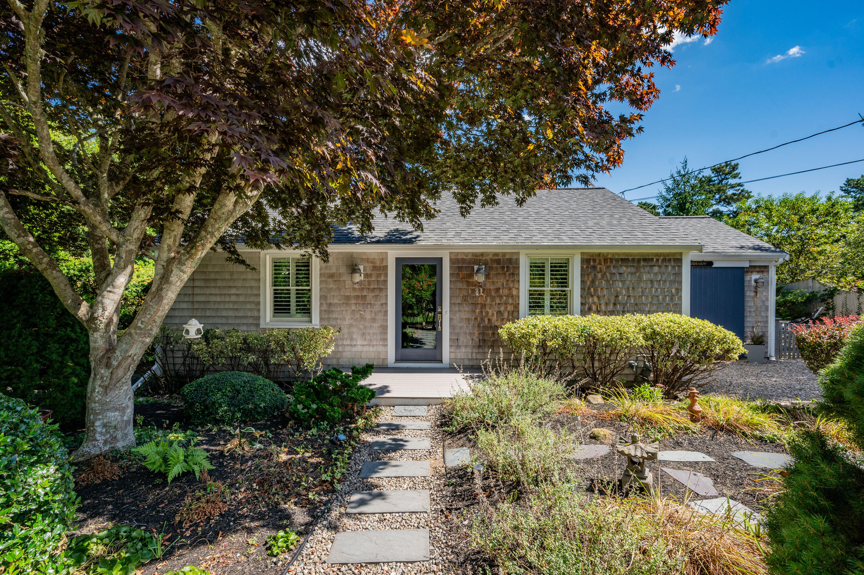
[[[650, 107], [645, 68], [674, 65], [676, 33], [714, 35], [725, 3], [7, 0], [0, 227], [88, 333], [74, 457], [134, 444], [130, 374], [213, 246], [326, 258], [334, 224], [420, 228], [445, 191], [465, 214], [588, 184], [642, 130], [607, 102]], [[40, 209], [86, 241], [92, 301]], [[118, 337], [141, 256], [153, 280]]]

